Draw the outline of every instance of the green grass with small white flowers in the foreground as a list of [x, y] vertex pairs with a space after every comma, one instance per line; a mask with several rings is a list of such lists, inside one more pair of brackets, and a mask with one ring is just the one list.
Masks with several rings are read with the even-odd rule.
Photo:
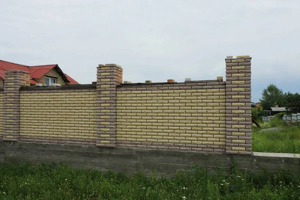
[[64, 164], [0, 165], [0, 199], [299, 199], [300, 176], [286, 170], [206, 172], [194, 166], [173, 178], [101, 172]]

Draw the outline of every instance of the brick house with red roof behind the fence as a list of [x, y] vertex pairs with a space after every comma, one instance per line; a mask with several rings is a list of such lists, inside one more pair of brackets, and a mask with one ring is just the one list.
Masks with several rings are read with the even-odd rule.
[[51, 83], [79, 84], [76, 80], [65, 74], [58, 64], [27, 66], [0, 60], [0, 87], [4, 85], [4, 71], [18, 69], [30, 73], [30, 84], [42, 83], [50, 85]]

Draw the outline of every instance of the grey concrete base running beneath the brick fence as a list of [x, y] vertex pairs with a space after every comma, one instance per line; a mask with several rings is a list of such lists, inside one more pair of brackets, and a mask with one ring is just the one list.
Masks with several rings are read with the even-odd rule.
[[31, 164], [43, 161], [65, 161], [73, 167], [92, 168], [132, 174], [155, 169], [157, 173], [172, 175], [177, 169], [192, 165], [208, 170], [223, 167], [229, 170], [233, 163], [241, 170], [274, 171], [280, 167], [300, 173], [300, 154], [261, 153], [252, 155], [214, 154], [195, 151], [168, 151], [136, 148], [107, 148], [96, 146], [0, 141], [0, 162]]

